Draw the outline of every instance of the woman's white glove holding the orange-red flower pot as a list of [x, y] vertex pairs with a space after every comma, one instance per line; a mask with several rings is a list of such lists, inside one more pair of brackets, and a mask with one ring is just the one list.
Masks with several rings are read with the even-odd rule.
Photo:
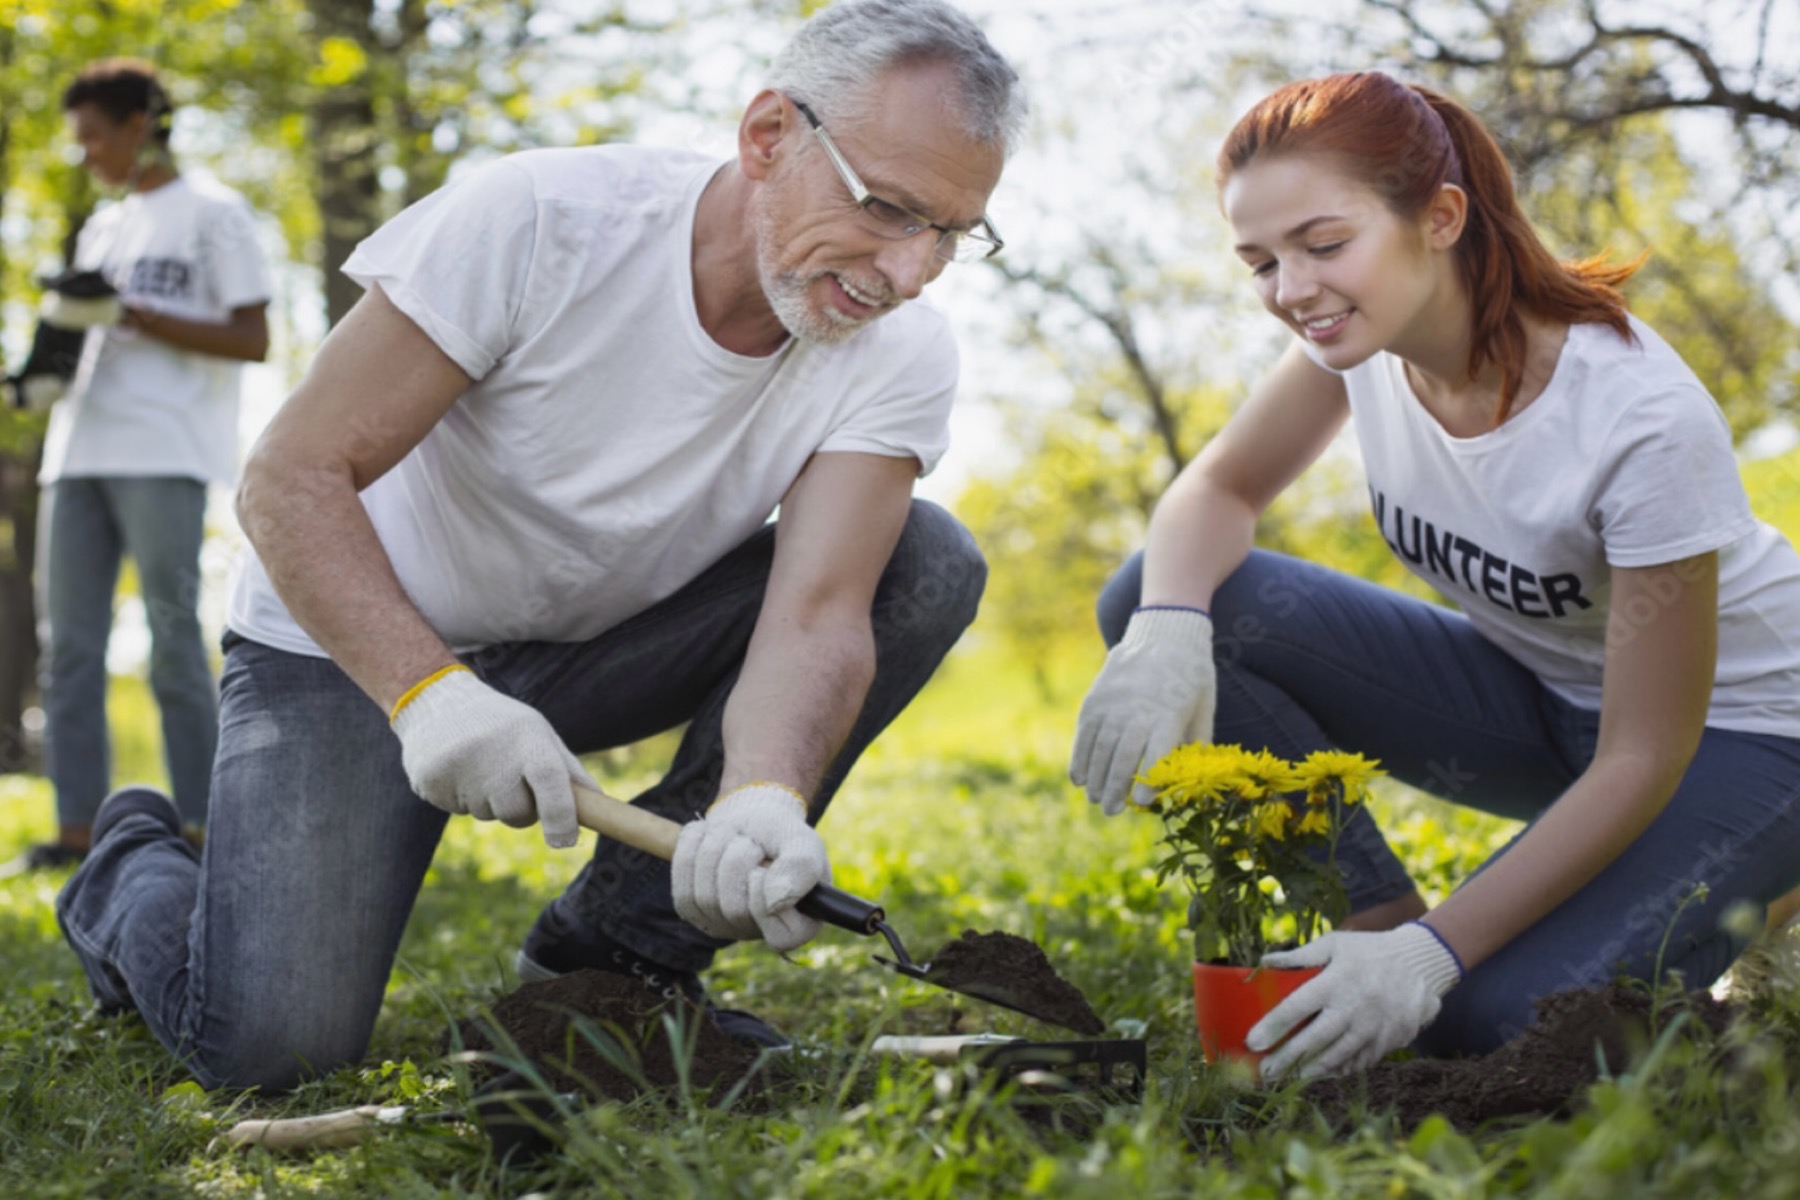
[[1244, 1038], [1260, 1054], [1314, 1018], [1262, 1060], [1265, 1081], [1296, 1065], [1303, 1079], [1373, 1067], [1431, 1024], [1444, 993], [1463, 975], [1449, 943], [1422, 921], [1382, 934], [1327, 934], [1298, 950], [1264, 955], [1262, 964], [1325, 968]]

